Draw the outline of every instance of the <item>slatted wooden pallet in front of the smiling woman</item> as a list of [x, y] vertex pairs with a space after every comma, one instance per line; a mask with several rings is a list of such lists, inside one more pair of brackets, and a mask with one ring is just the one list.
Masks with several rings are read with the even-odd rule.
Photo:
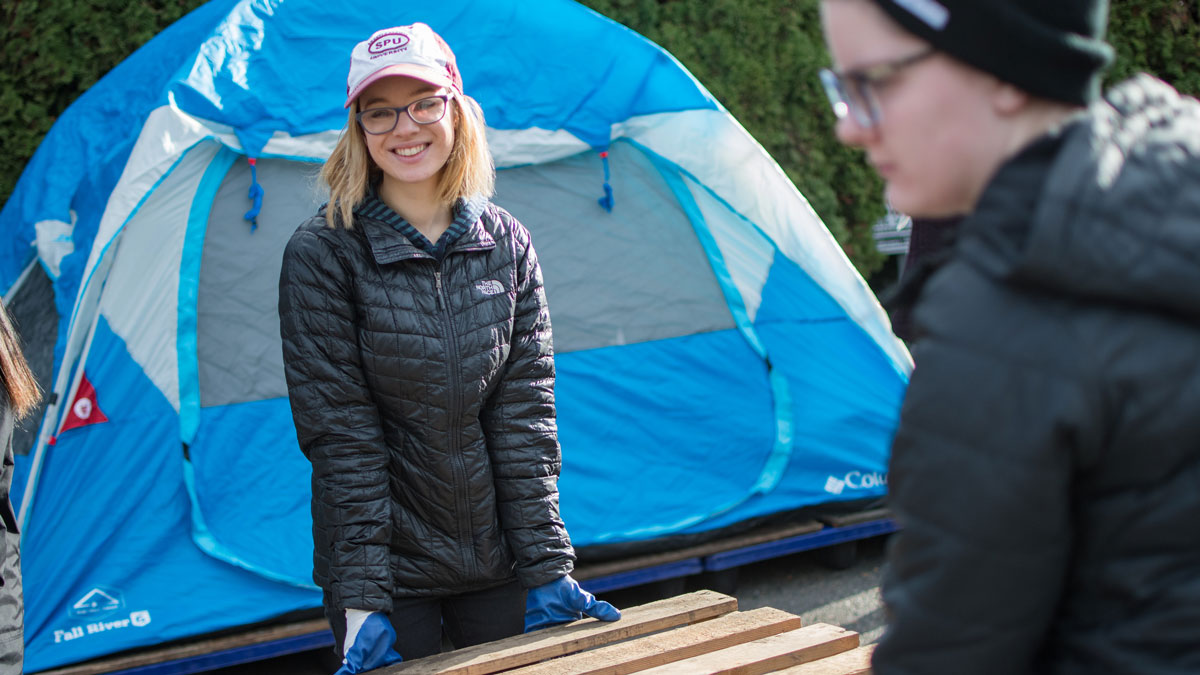
[[593, 619], [419, 658], [377, 675], [864, 675], [871, 646], [828, 623], [697, 591]]

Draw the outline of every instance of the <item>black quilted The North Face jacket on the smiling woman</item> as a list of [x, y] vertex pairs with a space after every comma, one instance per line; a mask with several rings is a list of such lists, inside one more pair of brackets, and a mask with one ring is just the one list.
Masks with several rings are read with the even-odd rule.
[[438, 262], [322, 209], [284, 251], [280, 322], [313, 578], [336, 609], [571, 571], [550, 315], [512, 216], [488, 204]]

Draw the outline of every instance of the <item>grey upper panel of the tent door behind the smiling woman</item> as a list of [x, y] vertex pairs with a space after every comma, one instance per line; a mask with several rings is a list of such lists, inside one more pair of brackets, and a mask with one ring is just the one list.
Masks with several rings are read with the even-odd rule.
[[[691, 222], [637, 148], [610, 153], [612, 213], [594, 153], [499, 172], [498, 204], [533, 233], [558, 352], [732, 329]], [[263, 209], [251, 231], [250, 167], [229, 169], [209, 214], [197, 299], [200, 405], [287, 395], [277, 293], [283, 247], [326, 198], [319, 167], [258, 161]]]

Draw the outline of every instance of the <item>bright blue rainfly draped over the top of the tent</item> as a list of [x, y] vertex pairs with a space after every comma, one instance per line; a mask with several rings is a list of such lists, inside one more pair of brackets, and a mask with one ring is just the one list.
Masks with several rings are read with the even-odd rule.
[[[76, 198], [108, 197], [137, 130], [168, 97], [234, 127], [252, 156], [275, 131], [337, 129], [346, 121], [344, 95], [329, 84], [344, 83], [344, 54], [382, 25], [421, 20], [443, 31], [456, 46], [467, 90], [494, 129], [565, 129], [602, 148], [610, 126], [632, 115], [719, 106], [670, 54], [568, 0], [494, 2], [470, 22], [461, 20], [455, 4], [390, 11], [347, 12], [316, 0], [210, 0], [172, 24], [84, 92], [38, 147], [0, 211], [0, 289], [30, 261], [34, 223], [70, 222]], [[496, 38], [510, 25], [522, 34]], [[583, 38], [563, 25], [581, 26]], [[523, 48], [530, 34], [542, 46], [532, 54]], [[196, 47], [184, 47], [190, 44]], [[337, 58], [314, 61], [307, 58], [314, 50]], [[85, 259], [100, 213], [79, 213], [89, 220], [76, 226], [74, 255]], [[67, 295], [67, 303], [74, 299]]]

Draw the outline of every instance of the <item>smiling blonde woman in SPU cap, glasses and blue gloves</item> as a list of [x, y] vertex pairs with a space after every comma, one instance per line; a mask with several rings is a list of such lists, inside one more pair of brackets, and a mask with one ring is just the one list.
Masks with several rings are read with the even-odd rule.
[[346, 107], [329, 203], [280, 279], [341, 671], [436, 653], [443, 627], [463, 647], [618, 619], [569, 575], [541, 271], [488, 201], [482, 112], [454, 53], [425, 24], [377, 31], [350, 55]]

